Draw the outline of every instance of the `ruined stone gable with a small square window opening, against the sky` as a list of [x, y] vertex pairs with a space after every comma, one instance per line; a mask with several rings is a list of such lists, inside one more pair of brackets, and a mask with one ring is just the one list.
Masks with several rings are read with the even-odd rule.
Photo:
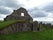
[[26, 20], [33, 22], [33, 18], [28, 14], [27, 10], [22, 7], [14, 10], [13, 13], [8, 15], [4, 20]]

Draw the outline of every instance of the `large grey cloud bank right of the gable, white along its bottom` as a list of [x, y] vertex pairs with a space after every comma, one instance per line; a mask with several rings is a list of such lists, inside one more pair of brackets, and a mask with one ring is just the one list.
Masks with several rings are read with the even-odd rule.
[[[49, 6], [46, 6], [49, 7]], [[53, 13], [51, 12], [51, 9], [43, 10], [39, 9], [39, 7], [35, 7], [33, 9], [30, 9], [30, 14], [33, 17], [33, 21], [48, 21], [52, 22], [53, 21]]]

